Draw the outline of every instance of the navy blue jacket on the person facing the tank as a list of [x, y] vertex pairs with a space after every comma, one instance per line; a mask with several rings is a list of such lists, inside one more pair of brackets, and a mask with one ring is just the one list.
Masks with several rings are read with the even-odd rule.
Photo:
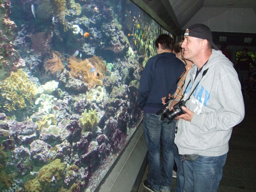
[[[176, 81], [185, 66], [174, 53], [164, 52], [151, 57], [140, 76], [138, 104], [147, 113], [156, 113], [163, 107], [162, 98], [174, 94]], [[146, 106], [146, 107], [145, 107]]]

